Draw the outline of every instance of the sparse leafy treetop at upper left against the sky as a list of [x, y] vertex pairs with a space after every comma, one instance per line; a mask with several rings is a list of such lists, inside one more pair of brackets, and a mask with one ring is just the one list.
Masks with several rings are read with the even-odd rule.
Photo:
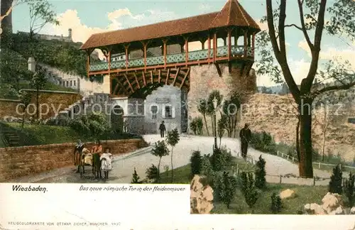
[[53, 5], [47, 0], [26, 0], [30, 9], [30, 38], [48, 23], [59, 26]]

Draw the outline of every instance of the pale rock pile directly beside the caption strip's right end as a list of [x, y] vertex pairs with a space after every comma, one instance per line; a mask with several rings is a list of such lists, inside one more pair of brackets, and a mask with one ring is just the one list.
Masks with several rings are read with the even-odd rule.
[[190, 183], [190, 212], [209, 214], [213, 209], [213, 189], [201, 183], [202, 177], [195, 175]]

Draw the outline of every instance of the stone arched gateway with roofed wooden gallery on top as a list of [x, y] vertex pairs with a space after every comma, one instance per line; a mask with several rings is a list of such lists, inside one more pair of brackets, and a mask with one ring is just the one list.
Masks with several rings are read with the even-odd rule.
[[[187, 110], [196, 109], [198, 97], [213, 88], [231, 92], [236, 84], [226, 80], [249, 81], [259, 31], [239, 2], [229, 0], [219, 12], [97, 33], [81, 49], [87, 74], [109, 77], [111, 102], [124, 110], [131, 131], [155, 132], [159, 114], [168, 129], [186, 131]], [[201, 49], [189, 51], [196, 42]], [[107, 60], [90, 62], [94, 49]], [[245, 87], [253, 90], [254, 83]]]

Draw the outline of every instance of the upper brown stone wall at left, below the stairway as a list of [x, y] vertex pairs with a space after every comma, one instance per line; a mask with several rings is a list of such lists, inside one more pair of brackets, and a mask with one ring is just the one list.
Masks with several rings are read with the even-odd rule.
[[[35, 104], [36, 104], [36, 94], [35, 91], [29, 91], [32, 94], [31, 104], [28, 106], [28, 113], [26, 113], [26, 118], [30, 116], [35, 116]], [[39, 104], [48, 105], [48, 113], [42, 115], [42, 119], [48, 119], [55, 115], [55, 111], [62, 111], [71, 104], [82, 99], [82, 96], [77, 93], [72, 92], [58, 92], [58, 91], [42, 91], [39, 96]], [[14, 116], [22, 118], [22, 107], [18, 106], [21, 104], [18, 100], [7, 100], [0, 99], [0, 118], [3, 119], [4, 116]], [[18, 106], [18, 112], [16, 112], [16, 106]], [[43, 105], [43, 113], [47, 111], [47, 106]]]

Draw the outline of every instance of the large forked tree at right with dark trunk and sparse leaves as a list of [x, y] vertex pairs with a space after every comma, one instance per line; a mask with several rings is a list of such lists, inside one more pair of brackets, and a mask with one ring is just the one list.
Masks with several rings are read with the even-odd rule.
[[[349, 61], [330, 60], [320, 68], [320, 50], [323, 32], [331, 36], [355, 39], [355, 1], [337, 0], [327, 7], [327, 0], [297, 0], [300, 24], [285, 23], [286, 0], [280, 1], [278, 8], [273, 9], [273, 2], [266, 0], [266, 14], [261, 22], [267, 22], [268, 31], [258, 34], [257, 43], [261, 60], [257, 62], [258, 74], [269, 75], [274, 82], [281, 83], [284, 78], [290, 94], [297, 104], [300, 118], [300, 136], [296, 146], [299, 149], [299, 172], [301, 177], [313, 177], [312, 167], [312, 103], [316, 97], [330, 91], [349, 89], [355, 85], [354, 71]], [[278, 26], [275, 26], [278, 23]], [[295, 28], [304, 36], [311, 53], [310, 68], [302, 79], [300, 87], [290, 71], [286, 55], [285, 29]], [[312, 41], [310, 34], [314, 35]], [[273, 52], [271, 52], [271, 46]], [[274, 57], [278, 65], [274, 63]], [[314, 87], [315, 77], [333, 81], [327, 87]]]

